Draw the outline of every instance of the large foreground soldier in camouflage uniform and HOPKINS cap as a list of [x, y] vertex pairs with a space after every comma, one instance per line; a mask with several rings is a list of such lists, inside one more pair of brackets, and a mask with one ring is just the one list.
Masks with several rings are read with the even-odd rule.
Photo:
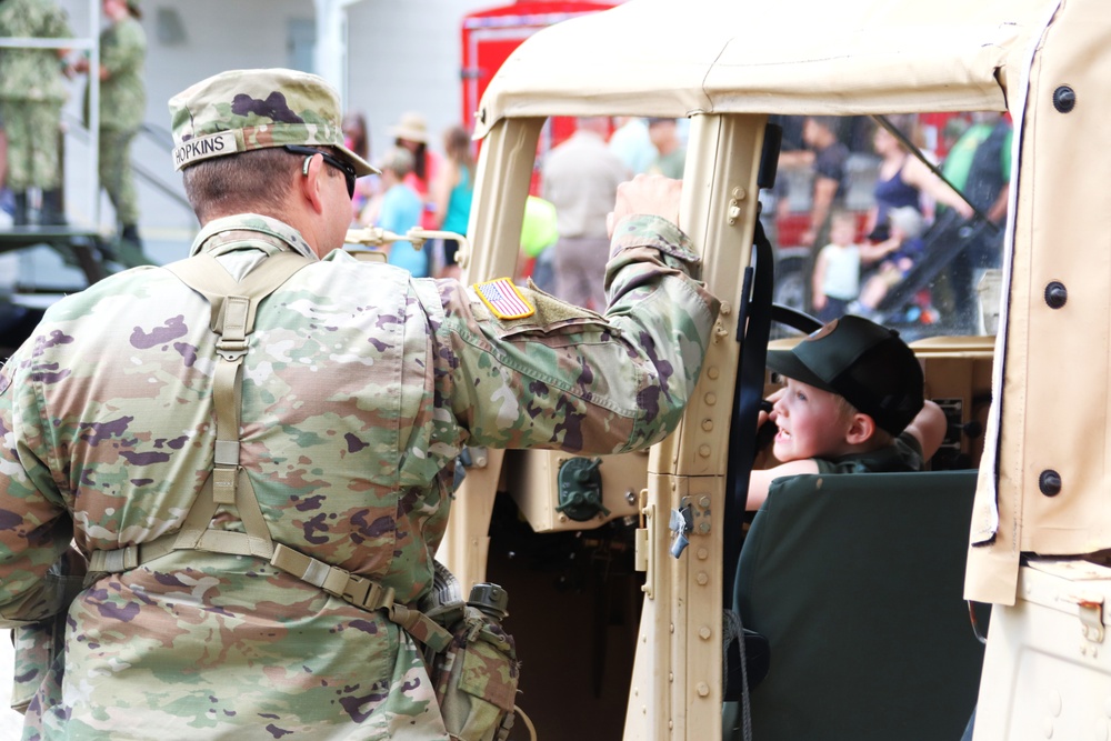
[[[258, 307], [236, 425], [239, 475], [282, 548], [420, 605], [464, 445], [618, 453], [678, 424], [718, 301], [674, 223], [677, 181], [619, 192], [605, 316], [528, 289], [508, 289], [511, 312], [489, 284], [338, 249], [354, 177], [373, 169], [343, 147], [320, 78], [228, 72], [170, 109], [203, 224], [192, 252], [234, 276], [307, 259]], [[0, 627], [66, 609], [47, 572], [71, 534], [84, 555], [134, 553], [211, 491], [227, 411], [214, 320], [168, 269], [137, 268], [53, 304], [4, 366]], [[24, 738], [447, 739], [421, 645], [393, 613], [264, 558], [143, 552], [68, 607], [63, 661]]]

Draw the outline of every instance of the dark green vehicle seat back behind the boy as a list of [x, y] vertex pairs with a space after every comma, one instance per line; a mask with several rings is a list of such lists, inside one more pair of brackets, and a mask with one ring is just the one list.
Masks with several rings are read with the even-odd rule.
[[752, 690], [757, 741], [961, 738], [983, 663], [963, 600], [975, 478], [815, 474], [773, 484], [734, 590], [744, 627], [771, 648], [770, 671]]

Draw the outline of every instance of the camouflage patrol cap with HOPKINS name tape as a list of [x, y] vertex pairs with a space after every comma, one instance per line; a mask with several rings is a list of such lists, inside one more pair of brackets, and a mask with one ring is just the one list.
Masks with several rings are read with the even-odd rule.
[[173, 169], [252, 149], [334, 147], [356, 173], [378, 169], [343, 146], [340, 99], [323, 78], [286, 69], [232, 70], [170, 99]]

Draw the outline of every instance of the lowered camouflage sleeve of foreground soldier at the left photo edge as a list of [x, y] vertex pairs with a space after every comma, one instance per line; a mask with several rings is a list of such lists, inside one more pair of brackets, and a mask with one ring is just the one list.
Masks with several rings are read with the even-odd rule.
[[[27, 346], [24, 346], [24, 350]], [[30, 353], [17, 352], [0, 369], [0, 628], [57, 613], [64, 583], [58, 570], [72, 525], [47, 465], [31, 380]]]

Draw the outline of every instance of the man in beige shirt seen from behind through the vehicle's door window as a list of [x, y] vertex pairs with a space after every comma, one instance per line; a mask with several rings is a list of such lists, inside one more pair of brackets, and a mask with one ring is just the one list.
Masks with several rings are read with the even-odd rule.
[[605, 213], [629, 171], [605, 144], [609, 119], [582, 118], [567, 141], [548, 152], [541, 197], [556, 206], [556, 296], [595, 311], [605, 306], [609, 259]]

